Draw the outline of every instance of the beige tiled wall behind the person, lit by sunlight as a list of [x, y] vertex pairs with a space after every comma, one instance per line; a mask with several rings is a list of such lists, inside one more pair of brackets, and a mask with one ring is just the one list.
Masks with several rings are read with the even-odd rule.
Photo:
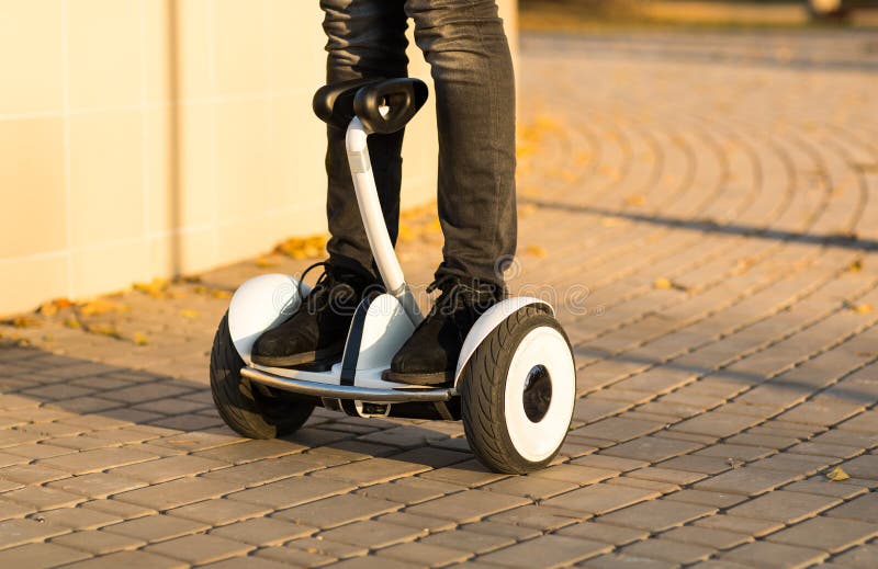
[[[316, 0], [0, 0], [0, 315], [325, 230], [320, 21]], [[406, 204], [435, 191], [424, 115]]]

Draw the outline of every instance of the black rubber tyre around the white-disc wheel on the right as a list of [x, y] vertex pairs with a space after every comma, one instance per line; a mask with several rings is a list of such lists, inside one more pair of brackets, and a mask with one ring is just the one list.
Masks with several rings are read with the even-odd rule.
[[[504, 407], [509, 365], [525, 335], [539, 327], [558, 330], [570, 346], [566, 333], [552, 315], [539, 306], [526, 306], [509, 316], [482, 341], [458, 383], [463, 431], [470, 448], [482, 464], [495, 473], [527, 474], [544, 468], [563, 444], [562, 440], [554, 453], [534, 463], [518, 453], [506, 426]], [[566, 437], [566, 432], [564, 436]]]

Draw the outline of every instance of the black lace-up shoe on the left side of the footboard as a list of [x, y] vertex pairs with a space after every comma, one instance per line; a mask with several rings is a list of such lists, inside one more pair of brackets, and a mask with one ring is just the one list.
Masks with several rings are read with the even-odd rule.
[[254, 363], [270, 367], [326, 367], [341, 359], [357, 305], [379, 285], [371, 277], [335, 268], [327, 261], [308, 266], [301, 281], [316, 266], [323, 266], [324, 273], [299, 310], [257, 339]]

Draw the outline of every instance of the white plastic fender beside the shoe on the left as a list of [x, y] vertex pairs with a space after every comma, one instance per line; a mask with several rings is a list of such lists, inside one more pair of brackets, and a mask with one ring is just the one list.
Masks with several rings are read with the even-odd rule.
[[[302, 284], [302, 294], [311, 288]], [[250, 352], [262, 332], [280, 325], [299, 309], [299, 280], [285, 274], [263, 274], [235, 291], [228, 306], [228, 331], [238, 355], [251, 365]]]

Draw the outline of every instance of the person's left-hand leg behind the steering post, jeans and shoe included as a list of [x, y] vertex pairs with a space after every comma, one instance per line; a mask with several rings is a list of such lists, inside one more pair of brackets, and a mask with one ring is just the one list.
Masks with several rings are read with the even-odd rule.
[[[329, 83], [406, 76], [403, 0], [322, 0], [320, 8], [326, 14]], [[313, 367], [337, 362], [357, 305], [376, 282], [348, 168], [345, 129], [329, 126], [327, 138], [329, 260], [318, 263], [325, 273], [302, 308], [257, 339], [252, 359], [261, 365]], [[402, 133], [369, 137], [379, 195], [394, 240], [399, 216], [402, 144]]]

